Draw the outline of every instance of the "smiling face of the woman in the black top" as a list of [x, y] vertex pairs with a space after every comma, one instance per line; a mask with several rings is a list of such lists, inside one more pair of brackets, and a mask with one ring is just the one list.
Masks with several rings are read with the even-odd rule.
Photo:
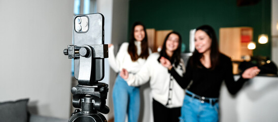
[[212, 39], [204, 31], [199, 29], [195, 33], [195, 48], [199, 53], [211, 51]]

